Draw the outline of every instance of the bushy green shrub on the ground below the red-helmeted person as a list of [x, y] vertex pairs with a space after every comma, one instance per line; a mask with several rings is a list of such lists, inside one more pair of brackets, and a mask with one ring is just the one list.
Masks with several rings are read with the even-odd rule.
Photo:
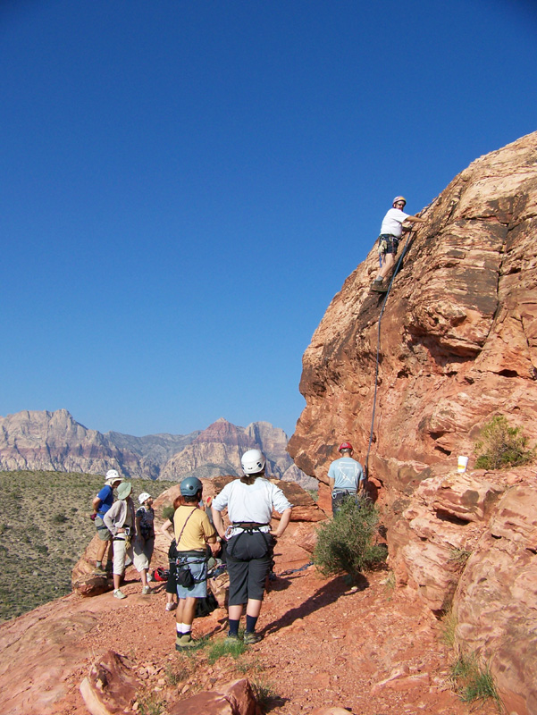
[[346, 571], [357, 576], [386, 559], [386, 547], [376, 542], [379, 512], [368, 499], [349, 496], [340, 511], [317, 530], [315, 566], [324, 576]]

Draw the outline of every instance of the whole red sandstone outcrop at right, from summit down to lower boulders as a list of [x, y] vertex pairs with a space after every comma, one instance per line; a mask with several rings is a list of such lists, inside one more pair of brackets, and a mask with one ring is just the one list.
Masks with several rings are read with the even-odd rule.
[[491, 416], [537, 442], [537, 133], [474, 161], [423, 215], [380, 330], [376, 248], [332, 300], [289, 452], [323, 483], [340, 440], [365, 458], [380, 334], [368, 466], [390, 565], [435, 612], [453, 602], [463, 649], [490, 660], [508, 711], [535, 713], [533, 470], [456, 472]]

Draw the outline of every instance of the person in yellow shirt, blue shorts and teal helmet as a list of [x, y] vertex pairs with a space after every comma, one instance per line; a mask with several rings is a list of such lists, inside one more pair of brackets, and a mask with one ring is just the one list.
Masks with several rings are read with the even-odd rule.
[[216, 532], [205, 510], [198, 509], [202, 500], [203, 484], [196, 476], [180, 483], [184, 503], [175, 510], [173, 529], [177, 543], [177, 637], [175, 650], [182, 651], [195, 645], [192, 639], [192, 622], [198, 598], [207, 595], [207, 544], [213, 555], [220, 551]]

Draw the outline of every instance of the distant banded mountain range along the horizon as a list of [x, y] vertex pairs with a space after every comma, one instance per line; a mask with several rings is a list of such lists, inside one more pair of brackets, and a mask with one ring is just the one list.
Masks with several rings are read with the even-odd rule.
[[268, 475], [317, 485], [287, 453], [288, 437], [268, 422], [248, 427], [216, 420], [190, 434], [130, 434], [90, 430], [66, 409], [22, 411], [0, 417], [0, 469], [54, 470], [105, 474], [116, 468], [125, 476], [179, 481], [185, 476], [240, 475], [240, 456], [258, 447], [267, 458]]

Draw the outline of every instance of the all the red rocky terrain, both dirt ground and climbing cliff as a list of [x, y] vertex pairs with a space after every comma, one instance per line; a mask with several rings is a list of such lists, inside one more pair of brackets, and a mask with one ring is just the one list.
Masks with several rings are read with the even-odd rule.
[[[306, 349], [289, 453], [319, 482], [319, 501], [281, 483], [297, 508], [278, 543], [264, 640], [238, 659], [177, 654], [163, 586], [143, 597], [128, 572], [125, 601], [81, 595], [99, 591], [92, 543], [71, 595], [0, 627], [5, 715], [253, 715], [252, 688], [267, 684], [265, 711], [285, 715], [537, 714], [535, 464], [478, 469], [474, 451], [495, 416], [528, 450], [537, 444], [537, 133], [476, 159], [423, 215], [385, 305], [369, 291], [373, 248]], [[389, 551], [387, 568], [356, 583], [309, 565], [344, 439], [368, 467]], [[195, 621], [211, 642], [225, 633], [221, 586], [220, 608]], [[454, 645], [490, 672], [499, 703], [460, 700]]]

